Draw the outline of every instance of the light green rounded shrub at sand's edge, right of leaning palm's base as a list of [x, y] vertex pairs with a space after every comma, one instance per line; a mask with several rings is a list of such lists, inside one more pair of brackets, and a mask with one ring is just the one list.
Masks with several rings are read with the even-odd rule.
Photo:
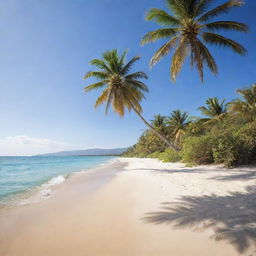
[[183, 161], [189, 164], [213, 163], [212, 143], [209, 135], [186, 138], [181, 151]]

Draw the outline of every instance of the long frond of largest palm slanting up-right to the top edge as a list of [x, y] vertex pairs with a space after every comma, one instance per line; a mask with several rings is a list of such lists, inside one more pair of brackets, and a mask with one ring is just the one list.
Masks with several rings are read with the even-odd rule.
[[216, 17], [222, 13], [227, 13], [233, 7], [240, 7], [244, 4], [242, 0], [229, 0], [222, 5], [215, 7], [214, 9], [203, 14], [198, 21], [207, 21], [210, 18]]

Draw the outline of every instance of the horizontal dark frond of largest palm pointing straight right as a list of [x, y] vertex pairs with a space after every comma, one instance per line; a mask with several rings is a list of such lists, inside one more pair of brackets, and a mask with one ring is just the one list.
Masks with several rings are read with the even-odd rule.
[[208, 30], [236, 30], [240, 32], [248, 32], [248, 26], [236, 21], [216, 21], [204, 25]]

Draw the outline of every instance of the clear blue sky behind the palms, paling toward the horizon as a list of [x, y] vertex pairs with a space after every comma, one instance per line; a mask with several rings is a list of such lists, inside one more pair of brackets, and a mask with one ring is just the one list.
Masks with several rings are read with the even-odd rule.
[[[223, 3], [216, 0], [214, 5]], [[153, 69], [149, 60], [165, 42], [145, 46], [140, 40], [157, 29], [144, 20], [151, 7], [165, 8], [164, 0], [8, 0], [0, 1], [0, 155], [32, 155], [59, 150], [126, 147], [145, 129], [134, 113], [123, 118], [104, 107], [94, 109], [99, 92], [85, 94], [83, 80], [93, 70], [89, 61], [102, 52], [129, 49], [128, 59], [140, 55], [133, 71], [144, 71], [150, 92], [143, 115], [169, 115], [172, 110], [192, 116], [208, 97], [231, 100], [237, 88], [256, 81], [256, 1], [247, 0], [221, 20], [250, 26], [248, 34], [225, 33], [248, 50], [238, 56], [210, 46], [219, 74], [207, 70], [202, 84], [196, 70], [185, 66], [174, 84], [171, 55]]]

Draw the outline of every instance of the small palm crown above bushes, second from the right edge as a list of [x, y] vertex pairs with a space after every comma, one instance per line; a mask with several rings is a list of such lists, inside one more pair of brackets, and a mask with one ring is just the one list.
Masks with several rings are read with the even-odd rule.
[[219, 102], [219, 99], [214, 97], [208, 98], [205, 103], [206, 106], [201, 106], [198, 108], [198, 110], [201, 110], [204, 116], [208, 117], [203, 118], [203, 120], [221, 120], [227, 114], [227, 107], [229, 103], [225, 103], [225, 100]]

